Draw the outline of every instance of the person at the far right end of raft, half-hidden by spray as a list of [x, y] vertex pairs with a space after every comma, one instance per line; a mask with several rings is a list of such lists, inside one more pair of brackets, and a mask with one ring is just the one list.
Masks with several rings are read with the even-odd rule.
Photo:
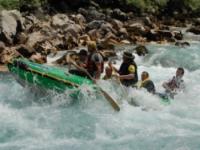
[[165, 88], [165, 93], [168, 94], [171, 98], [174, 98], [174, 95], [178, 91], [185, 89], [184, 80], [182, 79], [184, 75], [184, 69], [179, 67], [176, 70], [176, 75], [173, 76], [168, 82], [164, 82], [162, 86]]

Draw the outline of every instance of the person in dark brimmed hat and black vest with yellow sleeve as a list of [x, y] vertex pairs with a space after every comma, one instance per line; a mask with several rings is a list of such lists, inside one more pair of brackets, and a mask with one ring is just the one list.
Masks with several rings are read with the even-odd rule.
[[137, 65], [134, 61], [135, 56], [130, 52], [123, 53], [123, 62], [117, 70], [115, 71], [119, 74], [118, 78], [121, 83], [125, 86], [134, 86], [138, 82]]

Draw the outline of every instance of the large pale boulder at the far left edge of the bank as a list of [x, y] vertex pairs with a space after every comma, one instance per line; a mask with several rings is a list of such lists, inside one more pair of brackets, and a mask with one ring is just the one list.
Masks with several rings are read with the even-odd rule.
[[1, 11], [0, 40], [7, 45], [13, 44], [13, 38], [23, 30], [23, 19], [19, 11]]

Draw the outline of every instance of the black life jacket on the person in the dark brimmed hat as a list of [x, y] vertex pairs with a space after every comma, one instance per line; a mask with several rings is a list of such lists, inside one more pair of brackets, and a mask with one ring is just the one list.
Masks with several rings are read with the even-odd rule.
[[122, 63], [121, 66], [120, 66], [120, 69], [119, 69], [119, 74], [120, 75], [128, 75], [130, 74], [129, 73], [129, 66], [130, 65], [133, 65], [135, 67], [135, 72], [134, 72], [134, 78], [133, 79], [124, 79], [122, 80], [122, 84], [125, 85], [125, 86], [131, 86], [131, 85], [134, 85], [138, 82], [138, 73], [137, 73], [137, 65], [134, 61], [132, 62], [129, 62], [129, 63]]

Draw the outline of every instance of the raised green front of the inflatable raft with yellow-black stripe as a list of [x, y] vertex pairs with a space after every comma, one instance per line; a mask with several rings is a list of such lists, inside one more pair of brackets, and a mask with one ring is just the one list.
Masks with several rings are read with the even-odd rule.
[[57, 92], [78, 88], [82, 84], [93, 84], [91, 80], [66, 73], [61, 68], [41, 65], [24, 58], [14, 59], [8, 64], [8, 69], [20, 83]]

